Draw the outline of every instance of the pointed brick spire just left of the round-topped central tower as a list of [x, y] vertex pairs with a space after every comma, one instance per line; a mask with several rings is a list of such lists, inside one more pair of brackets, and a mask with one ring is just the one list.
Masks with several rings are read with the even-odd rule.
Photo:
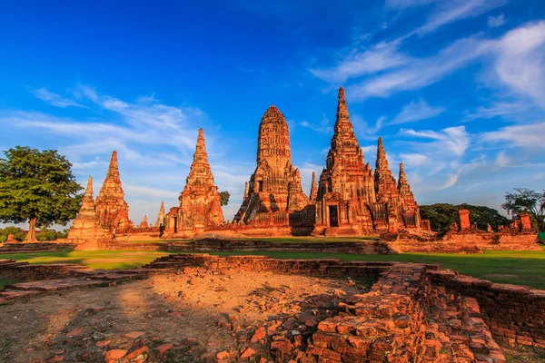
[[165, 232], [193, 237], [199, 231], [223, 224], [221, 197], [213, 182], [203, 129], [199, 130], [193, 163], [178, 199], [180, 207], [170, 210]]

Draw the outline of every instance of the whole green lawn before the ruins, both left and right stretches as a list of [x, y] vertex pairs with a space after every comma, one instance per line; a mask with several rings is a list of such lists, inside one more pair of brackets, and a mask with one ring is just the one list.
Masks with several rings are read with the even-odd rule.
[[[93, 269], [133, 269], [155, 260], [169, 251], [155, 250], [88, 250], [55, 251], [39, 253], [3, 254], [0, 259], [28, 261], [30, 263], [71, 262]], [[432, 253], [403, 253], [399, 255], [351, 255], [340, 253], [233, 251], [211, 252], [226, 255], [267, 255], [278, 259], [376, 260], [439, 263], [444, 269], [459, 270], [476, 278], [500, 283], [526, 285], [545, 289], [545, 249], [541, 251], [485, 250], [483, 254], [457, 255]]]

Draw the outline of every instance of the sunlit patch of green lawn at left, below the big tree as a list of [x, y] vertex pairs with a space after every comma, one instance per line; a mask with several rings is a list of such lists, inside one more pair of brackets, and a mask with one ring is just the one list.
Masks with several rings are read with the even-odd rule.
[[57, 250], [54, 252], [2, 254], [0, 259], [29, 263], [77, 263], [91, 269], [134, 269], [171, 254], [159, 250]]

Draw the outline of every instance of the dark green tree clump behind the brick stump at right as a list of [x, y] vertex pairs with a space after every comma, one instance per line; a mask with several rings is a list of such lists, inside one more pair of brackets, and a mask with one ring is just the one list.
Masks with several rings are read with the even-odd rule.
[[499, 226], [507, 225], [510, 222], [495, 209], [465, 203], [460, 205], [449, 203], [421, 205], [421, 219], [430, 220], [432, 231], [447, 231], [452, 223], [458, 221], [458, 211], [463, 209], [470, 211], [471, 224], [476, 224], [477, 228], [483, 231], [486, 231], [488, 224], [494, 231], [498, 231]]

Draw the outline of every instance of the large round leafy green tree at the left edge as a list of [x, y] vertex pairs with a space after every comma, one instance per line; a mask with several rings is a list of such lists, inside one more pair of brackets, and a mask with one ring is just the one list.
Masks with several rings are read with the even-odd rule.
[[35, 227], [65, 225], [74, 219], [83, 194], [72, 164], [54, 150], [15, 146], [0, 159], [0, 221], [29, 221], [25, 241], [36, 240]]

